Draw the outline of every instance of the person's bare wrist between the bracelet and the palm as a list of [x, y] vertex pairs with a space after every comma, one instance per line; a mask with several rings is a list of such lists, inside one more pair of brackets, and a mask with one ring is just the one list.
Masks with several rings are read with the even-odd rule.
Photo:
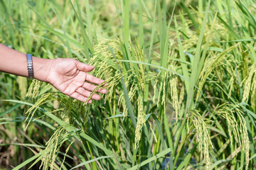
[[33, 57], [33, 74], [34, 78], [40, 81], [48, 82], [48, 75], [50, 73], [50, 65], [52, 61], [50, 59], [42, 59]]

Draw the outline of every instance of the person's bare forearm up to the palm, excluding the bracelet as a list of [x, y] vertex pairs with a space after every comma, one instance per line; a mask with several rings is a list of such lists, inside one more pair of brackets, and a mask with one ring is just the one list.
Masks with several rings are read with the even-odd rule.
[[[33, 57], [33, 74], [35, 79], [46, 81], [49, 67], [50, 61], [48, 59]], [[0, 43], [0, 72], [28, 77], [26, 55]]]

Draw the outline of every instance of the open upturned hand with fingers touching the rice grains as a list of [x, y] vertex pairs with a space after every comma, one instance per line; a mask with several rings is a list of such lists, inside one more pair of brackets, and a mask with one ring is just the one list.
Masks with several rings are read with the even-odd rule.
[[[75, 59], [51, 60], [48, 68], [50, 69], [46, 74], [46, 81], [63, 94], [82, 102], [85, 102], [91, 91], [95, 89], [96, 86], [93, 84], [101, 84], [104, 81], [87, 73], [92, 71], [94, 66], [78, 62]], [[97, 92], [106, 94], [107, 90], [101, 89]], [[100, 100], [100, 95], [93, 94], [92, 99]], [[92, 100], [88, 103], [92, 103]]]

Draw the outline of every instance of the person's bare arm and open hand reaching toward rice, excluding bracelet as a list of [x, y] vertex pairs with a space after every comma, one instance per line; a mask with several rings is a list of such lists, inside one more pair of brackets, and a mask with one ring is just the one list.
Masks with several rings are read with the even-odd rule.
[[[95, 89], [93, 84], [101, 84], [102, 79], [88, 74], [94, 66], [78, 62], [74, 59], [42, 59], [33, 57], [34, 78], [46, 81], [63, 94], [85, 102], [90, 92]], [[22, 52], [13, 50], [0, 43], [0, 72], [16, 74], [28, 77], [28, 67], [26, 55]], [[107, 93], [106, 89], [97, 91]], [[100, 100], [98, 94], [94, 94], [92, 99]], [[91, 103], [92, 101], [89, 101]]]

